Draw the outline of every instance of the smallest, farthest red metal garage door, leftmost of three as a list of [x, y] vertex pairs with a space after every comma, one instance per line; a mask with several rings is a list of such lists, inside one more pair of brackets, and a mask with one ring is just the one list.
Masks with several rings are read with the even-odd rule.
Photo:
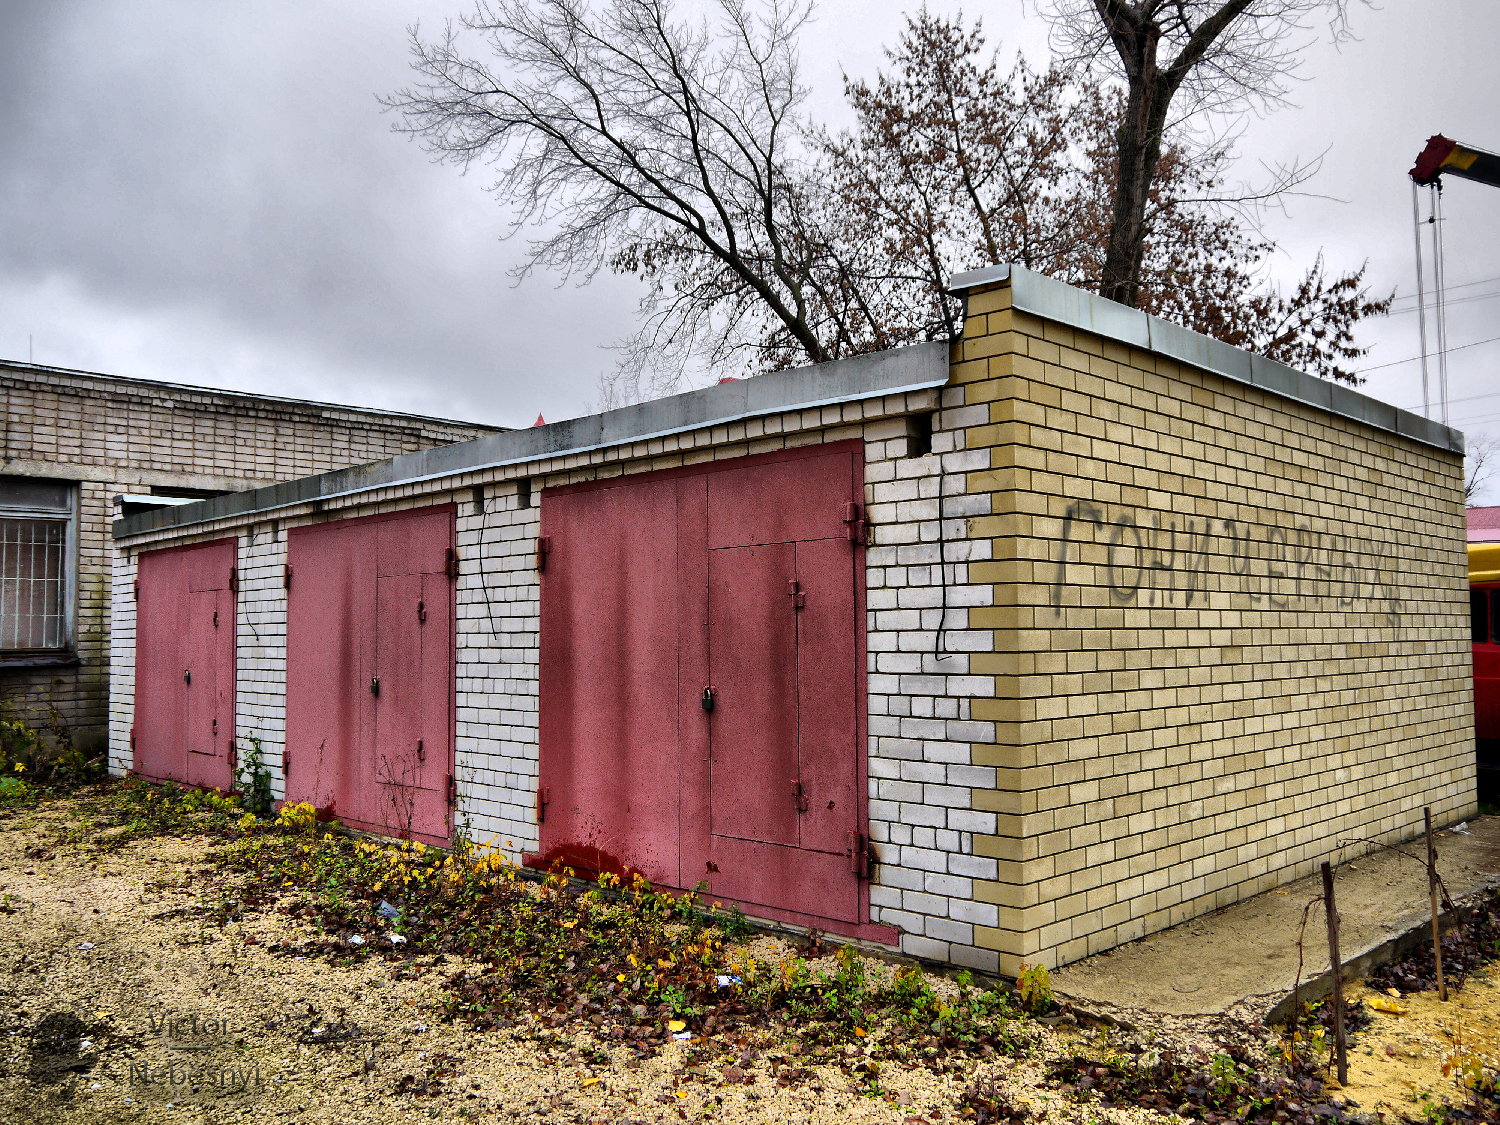
[[236, 540], [144, 552], [136, 570], [135, 770], [231, 789]]

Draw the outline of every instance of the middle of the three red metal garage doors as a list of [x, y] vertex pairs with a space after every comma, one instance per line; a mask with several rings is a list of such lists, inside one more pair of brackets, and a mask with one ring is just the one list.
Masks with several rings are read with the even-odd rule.
[[372, 831], [452, 830], [452, 506], [288, 537], [286, 798]]

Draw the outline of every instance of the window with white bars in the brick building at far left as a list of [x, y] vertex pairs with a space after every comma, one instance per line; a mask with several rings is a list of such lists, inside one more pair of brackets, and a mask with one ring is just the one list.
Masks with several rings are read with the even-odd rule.
[[0, 651], [72, 644], [74, 486], [0, 477]]

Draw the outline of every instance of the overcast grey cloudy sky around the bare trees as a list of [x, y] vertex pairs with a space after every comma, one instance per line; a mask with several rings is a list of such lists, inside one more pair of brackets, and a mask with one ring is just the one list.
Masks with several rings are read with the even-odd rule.
[[[802, 62], [822, 120], [846, 120], [840, 72], [873, 75], [909, 8], [820, 4]], [[524, 248], [486, 176], [434, 165], [375, 100], [410, 80], [405, 27], [459, 10], [0, 0], [0, 357], [501, 424], [584, 412], [636, 284], [514, 285]], [[966, 12], [1046, 60], [1029, 6]], [[1401, 300], [1365, 332], [1365, 390], [1420, 410], [1406, 171], [1434, 132], [1500, 150], [1500, 20], [1384, 0], [1353, 24], [1358, 42], [1306, 52], [1294, 108], [1246, 122], [1242, 174], [1326, 150], [1310, 190], [1329, 198], [1266, 219], [1272, 268], [1368, 260]], [[1460, 348], [1500, 336], [1500, 192], [1450, 178], [1444, 214]], [[1470, 435], [1500, 435], [1497, 364], [1500, 342], [1450, 356]]]

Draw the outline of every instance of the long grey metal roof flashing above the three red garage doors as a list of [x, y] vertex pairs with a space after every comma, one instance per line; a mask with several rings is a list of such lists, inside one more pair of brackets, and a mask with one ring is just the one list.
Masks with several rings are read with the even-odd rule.
[[318, 500], [416, 484], [528, 460], [591, 453], [768, 414], [932, 390], [948, 382], [948, 340], [932, 340], [810, 368], [753, 375], [549, 426], [486, 434], [472, 441], [404, 453], [388, 460], [322, 472], [316, 477], [302, 477], [196, 504], [124, 516], [114, 520], [114, 537], [130, 538], [219, 519], [244, 519]]

